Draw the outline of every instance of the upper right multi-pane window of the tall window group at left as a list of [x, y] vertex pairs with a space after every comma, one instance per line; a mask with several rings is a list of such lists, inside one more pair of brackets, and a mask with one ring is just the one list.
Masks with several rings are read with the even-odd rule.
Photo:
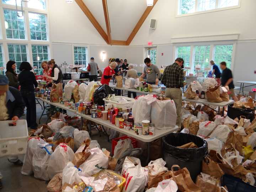
[[47, 41], [46, 15], [28, 13], [31, 40]]

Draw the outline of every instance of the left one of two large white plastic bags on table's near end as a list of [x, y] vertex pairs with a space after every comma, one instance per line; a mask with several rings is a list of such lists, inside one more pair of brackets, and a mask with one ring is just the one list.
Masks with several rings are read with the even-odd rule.
[[151, 103], [156, 100], [151, 94], [143, 95], [135, 100], [132, 107], [132, 116], [134, 123], [140, 123], [143, 120], [151, 120]]

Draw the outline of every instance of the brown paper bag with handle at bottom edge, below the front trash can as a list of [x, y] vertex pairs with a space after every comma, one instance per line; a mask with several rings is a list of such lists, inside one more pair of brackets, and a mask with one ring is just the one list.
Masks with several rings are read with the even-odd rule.
[[[174, 167], [177, 167], [179, 170], [174, 171]], [[190, 172], [186, 167], [180, 169], [178, 165], [172, 165], [171, 167], [172, 180], [174, 180], [180, 191], [186, 192], [201, 192], [200, 188], [192, 181], [190, 177]]]

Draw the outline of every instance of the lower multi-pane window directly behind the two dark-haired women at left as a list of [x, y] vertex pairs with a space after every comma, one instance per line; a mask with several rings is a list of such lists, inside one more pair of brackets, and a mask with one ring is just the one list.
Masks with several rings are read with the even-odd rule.
[[23, 61], [28, 61], [27, 47], [21, 44], [8, 44], [9, 60], [16, 62], [16, 72], [20, 68]]

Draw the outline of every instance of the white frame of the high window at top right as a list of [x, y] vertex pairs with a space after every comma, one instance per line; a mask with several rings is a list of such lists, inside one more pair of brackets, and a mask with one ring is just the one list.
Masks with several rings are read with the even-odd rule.
[[215, 9], [211, 10], [206, 10], [206, 11], [198, 11], [198, 0], [195, 0], [195, 11], [192, 13], [187, 13], [187, 14], [181, 14], [181, 0], [176, 0], [176, 16], [175, 17], [185, 17], [185, 16], [191, 16], [191, 15], [198, 15], [198, 14], [205, 14], [205, 13], [210, 13], [210, 12], [215, 12], [215, 11], [224, 11], [224, 10], [229, 10], [229, 9], [237, 9], [241, 7], [241, 0], [238, 0], [238, 5], [235, 6], [229, 6], [229, 7], [222, 7], [219, 8], [219, 0], [216, 0], [216, 5]]

